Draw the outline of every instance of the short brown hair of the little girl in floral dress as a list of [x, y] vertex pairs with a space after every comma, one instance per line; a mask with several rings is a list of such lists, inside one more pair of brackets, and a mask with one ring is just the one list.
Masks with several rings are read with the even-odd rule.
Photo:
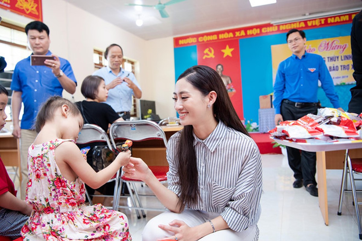
[[63, 104], [66, 104], [69, 106], [69, 112], [74, 115], [81, 115], [79, 109], [77, 106], [72, 103], [70, 100], [64, 99], [60, 96], [51, 96], [47, 101], [42, 105], [40, 108], [37, 119], [35, 121], [35, 130], [37, 133], [40, 132], [40, 130], [45, 125], [46, 121], [52, 120], [54, 117], [55, 111], [62, 107]]

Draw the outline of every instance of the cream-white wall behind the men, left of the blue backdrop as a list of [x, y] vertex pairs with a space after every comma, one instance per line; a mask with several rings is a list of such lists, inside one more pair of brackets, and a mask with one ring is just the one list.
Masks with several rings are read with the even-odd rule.
[[[84, 77], [92, 74], [93, 49], [105, 50], [111, 43], [122, 46], [125, 57], [136, 60], [136, 78], [142, 99], [155, 100], [161, 118], [175, 116], [173, 39], [146, 41], [63, 0], [42, 0], [43, 22], [50, 29], [50, 50], [70, 61], [78, 82], [74, 100]], [[30, 18], [0, 9], [3, 20], [25, 26]], [[136, 27], [136, 26], [135, 26]], [[71, 98], [66, 91], [63, 96]]]

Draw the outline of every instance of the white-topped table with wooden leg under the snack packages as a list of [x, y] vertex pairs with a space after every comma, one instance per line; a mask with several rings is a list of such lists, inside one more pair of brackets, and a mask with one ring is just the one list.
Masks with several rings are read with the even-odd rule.
[[319, 208], [322, 212], [325, 225], [329, 224], [328, 221], [328, 199], [327, 199], [327, 177], [326, 177], [326, 152], [337, 151], [346, 149], [362, 148], [362, 140], [358, 141], [343, 141], [331, 143], [299, 143], [292, 141], [285, 141], [273, 138], [279, 144], [294, 147], [303, 151], [317, 152], [317, 175], [318, 175], [318, 201]]

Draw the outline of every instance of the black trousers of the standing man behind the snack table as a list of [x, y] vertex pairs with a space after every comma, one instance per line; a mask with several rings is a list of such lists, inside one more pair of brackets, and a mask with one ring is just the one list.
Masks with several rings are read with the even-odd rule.
[[[316, 115], [317, 107], [297, 108], [292, 104], [282, 102], [280, 108], [283, 120], [298, 120], [309, 113]], [[288, 162], [294, 172], [295, 179], [303, 179], [303, 185], [317, 185], [316, 174], [316, 153], [310, 151], [300, 151], [293, 147], [287, 147]]]

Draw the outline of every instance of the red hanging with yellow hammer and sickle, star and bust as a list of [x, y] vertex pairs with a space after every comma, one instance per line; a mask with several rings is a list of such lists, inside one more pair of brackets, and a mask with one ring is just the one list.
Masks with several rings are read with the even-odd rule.
[[237, 115], [243, 120], [239, 40], [199, 44], [197, 57], [199, 65], [207, 65], [218, 71]]

